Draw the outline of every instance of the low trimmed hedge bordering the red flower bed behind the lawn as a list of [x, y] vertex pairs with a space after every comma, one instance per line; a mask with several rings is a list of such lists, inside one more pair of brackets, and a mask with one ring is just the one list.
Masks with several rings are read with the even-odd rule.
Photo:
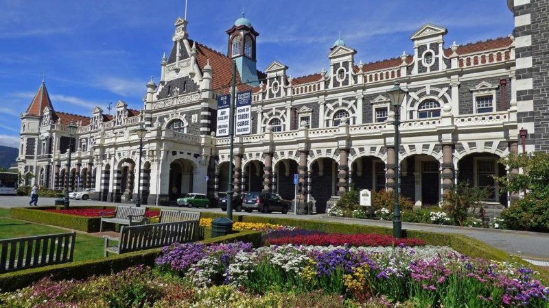
[[[54, 213], [44, 211], [44, 209], [62, 209], [63, 207], [12, 207], [10, 216], [15, 219], [27, 220], [39, 224], [49, 224], [51, 226], [69, 228], [87, 233], [99, 232], [101, 218], [84, 217], [69, 214]], [[97, 208], [97, 207], [94, 207]], [[114, 210], [114, 207], [100, 207], [106, 210]]]

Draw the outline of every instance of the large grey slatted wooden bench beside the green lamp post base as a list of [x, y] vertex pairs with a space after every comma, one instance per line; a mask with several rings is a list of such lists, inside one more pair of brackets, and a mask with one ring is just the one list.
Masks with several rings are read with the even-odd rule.
[[[197, 229], [198, 222], [196, 220], [123, 226], [120, 228], [120, 238], [103, 235], [105, 257], [108, 257], [108, 253], [129, 253], [130, 251], [168, 246], [175, 242], [190, 242], [196, 237]], [[118, 244], [112, 246], [109, 244], [110, 241], [118, 241]]]

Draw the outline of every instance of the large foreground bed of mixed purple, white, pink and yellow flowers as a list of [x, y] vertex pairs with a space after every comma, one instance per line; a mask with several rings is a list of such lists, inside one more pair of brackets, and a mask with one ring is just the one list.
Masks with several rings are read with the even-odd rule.
[[[174, 244], [143, 266], [0, 294], [7, 307], [547, 307], [528, 268], [451, 248]], [[301, 301], [300, 299], [301, 298]]]

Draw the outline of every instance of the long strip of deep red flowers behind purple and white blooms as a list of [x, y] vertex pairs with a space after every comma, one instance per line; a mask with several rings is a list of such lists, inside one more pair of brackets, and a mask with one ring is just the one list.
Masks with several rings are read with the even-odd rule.
[[313, 246], [338, 246], [348, 244], [350, 246], [393, 246], [404, 244], [406, 246], [420, 246], [425, 244], [423, 240], [404, 238], [397, 240], [391, 235], [381, 234], [309, 234], [290, 235], [268, 240], [272, 245], [313, 245]]

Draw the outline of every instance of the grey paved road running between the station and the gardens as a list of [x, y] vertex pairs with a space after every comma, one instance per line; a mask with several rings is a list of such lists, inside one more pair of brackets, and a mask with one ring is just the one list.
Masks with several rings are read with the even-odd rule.
[[[0, 196], [0, 207], [24, 207], [28, 206], [30, 198], [28, 197], [16, 197], [16, 196]], [[54, 198], [40, 198], [38, 205], [53, 205]], [[71, 206], [78, 205], [109, 205], [113, 203], [99, 202], [99, 201], [78, 201], [71, 200]], [[187, 209], [190, 211], [211, 211], [221, 213], [220, 209]], [[244, 213], [244, 212], [243, 212]], [[242, 213], [241, 213], [242, 214]], [[244, 213], [245, 214], [245, 213]], [[392, 227], [393, 223], [390, 221], [382, 220], [362, 220], [353, 218], [336, 218], [327, 215], [303, 215], [295, 216], [293, 214], [259, 214], [253, 212], [253, 214], [246, 214], [253, 216], [266, 216], [266, 217], [285, 217], [296, 218], [303, 220], [320, 220], [341, 222], [346, 224], [364, 224], [380, 227]], [[493, 229], [475, 229], [467, 227], [454, 227], [454, 226], [439, 226], [434, 224], [415, 224], [410, 222], [402, 223], [403, 229], [409, 230], [421, 230], [432, 231], [440, 233], [456, 233], [467, 235], [476, 240], [481, 240], [493, 247], [500, 248], [502, 251], [506, 251], [511, 255], [520, 255], [523, 259], [532, 259], [541, 262], [549, 261], [549, 234], [547, 233], [535, 233], [524, 231], [508, 231], [508, 230], [493, 230]]]

